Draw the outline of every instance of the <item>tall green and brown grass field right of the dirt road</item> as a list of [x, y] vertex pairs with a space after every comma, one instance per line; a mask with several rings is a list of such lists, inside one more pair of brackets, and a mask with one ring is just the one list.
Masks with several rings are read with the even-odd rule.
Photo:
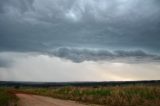
[[21, 91], [107, 106], [160, 106], [160, 86], [22, 88]]

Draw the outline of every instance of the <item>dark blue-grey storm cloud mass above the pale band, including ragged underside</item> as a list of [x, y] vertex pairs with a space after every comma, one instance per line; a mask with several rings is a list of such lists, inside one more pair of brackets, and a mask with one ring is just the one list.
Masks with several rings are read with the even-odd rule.
[[142, 50], [160, 53], [159, 35], [159, 0], [0, 1], [0, 51], [48, 53], [73, 47], [55, 55], [74, 62], [136, 55], [153, 59]]

